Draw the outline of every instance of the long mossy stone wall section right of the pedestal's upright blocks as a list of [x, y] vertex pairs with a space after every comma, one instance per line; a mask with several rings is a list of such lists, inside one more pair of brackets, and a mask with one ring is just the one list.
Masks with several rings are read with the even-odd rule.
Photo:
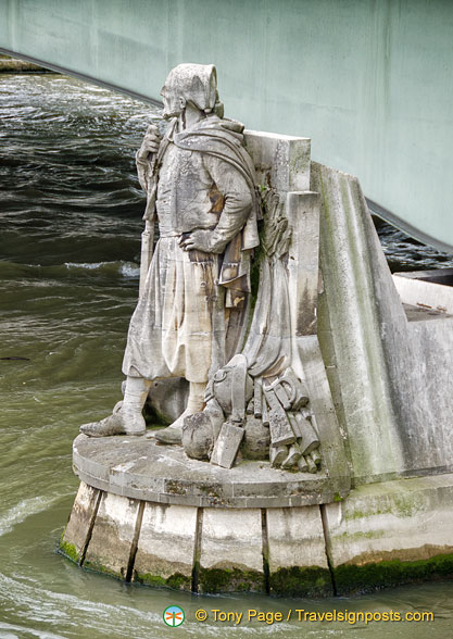
[[323, 508], [339, 592], [453, 574], [453, 475], [361, 486]]

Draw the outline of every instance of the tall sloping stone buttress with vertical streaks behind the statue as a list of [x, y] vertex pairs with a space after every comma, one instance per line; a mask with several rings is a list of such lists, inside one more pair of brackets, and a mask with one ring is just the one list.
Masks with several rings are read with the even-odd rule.
[[323, 195], [323, 354], [355, 481], [451, 472], [453, 318], [407, 322], [356, 178], [312, 163]]

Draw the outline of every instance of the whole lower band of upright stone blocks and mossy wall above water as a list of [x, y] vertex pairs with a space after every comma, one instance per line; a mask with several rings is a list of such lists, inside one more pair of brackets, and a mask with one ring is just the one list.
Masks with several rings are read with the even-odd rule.
[[452, 474], [292, 508], [165, 505], [81, 484], [60, 550], [148, 586], [324, 597], [451, 577], [452, 513]]

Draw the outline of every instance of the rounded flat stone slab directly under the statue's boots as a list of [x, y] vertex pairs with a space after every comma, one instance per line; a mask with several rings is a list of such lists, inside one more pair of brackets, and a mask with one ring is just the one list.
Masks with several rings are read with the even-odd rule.
[[80, 480], [95, 488], [164, 504], [207, 508], [284, 508], [329, 503], [349, 492], [348, 477], [272, 468], [242, 461], [232, 468], [190, 460], [180, 446], [146, 437], [74, 440], [73, 462]]

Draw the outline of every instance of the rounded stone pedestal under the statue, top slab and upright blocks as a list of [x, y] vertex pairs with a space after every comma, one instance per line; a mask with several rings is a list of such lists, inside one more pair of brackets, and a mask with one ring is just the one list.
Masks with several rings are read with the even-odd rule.
[[226, 469], [144, 437], [79, 435], [74, 468], [60, 548], [79, 565], [198, 592], [332, 593], [317, 504], [348, 494], [344, 459], [315, 475], [253, 461]]

